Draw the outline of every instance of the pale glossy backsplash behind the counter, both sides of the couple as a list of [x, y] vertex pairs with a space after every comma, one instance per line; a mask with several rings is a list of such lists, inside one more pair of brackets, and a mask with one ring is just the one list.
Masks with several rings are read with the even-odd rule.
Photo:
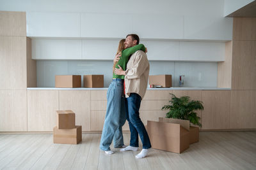
[[[37, 60], [37, 87], [54, 87], [56, 74], [104, 74], [108, 87], [112, 66], [111, 60]], [[217, 70], [217, 62], [150, 61], [149, 74], [172, 74], [173, 87], [179, 87], [180, 75], [185, 75], [184, 87], [217, 87]]]

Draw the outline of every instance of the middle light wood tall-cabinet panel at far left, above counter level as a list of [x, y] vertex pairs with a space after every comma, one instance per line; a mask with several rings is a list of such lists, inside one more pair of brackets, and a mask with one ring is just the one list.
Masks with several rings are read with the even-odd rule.
[[0, 36], [0, 89], [27, 89], [26, 37]]

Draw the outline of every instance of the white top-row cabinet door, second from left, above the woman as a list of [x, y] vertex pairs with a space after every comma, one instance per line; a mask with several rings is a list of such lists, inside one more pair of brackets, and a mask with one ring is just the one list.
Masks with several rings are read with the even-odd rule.
[[81, 37], [124, 38], [132, 33], [132, 15], [81, 13]]

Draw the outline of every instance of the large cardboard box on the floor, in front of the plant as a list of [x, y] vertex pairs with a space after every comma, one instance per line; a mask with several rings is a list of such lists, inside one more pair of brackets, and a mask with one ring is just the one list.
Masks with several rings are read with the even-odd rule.
[[175, 153], [189, 148], [189, 131], [180, 124], [148, 121], [147, 130], [152, 148]]

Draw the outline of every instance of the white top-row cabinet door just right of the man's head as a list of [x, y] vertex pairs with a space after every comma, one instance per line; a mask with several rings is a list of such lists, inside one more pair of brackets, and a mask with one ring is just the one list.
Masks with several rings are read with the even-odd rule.
[[132, 15], [132, 31], [141, 38], [183, 39], [184, 17], [173, 15]]

